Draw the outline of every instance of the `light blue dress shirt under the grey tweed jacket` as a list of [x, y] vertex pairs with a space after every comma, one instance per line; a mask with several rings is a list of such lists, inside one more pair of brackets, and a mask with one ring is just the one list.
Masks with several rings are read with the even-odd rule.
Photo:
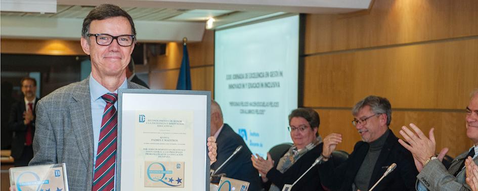
[[[126, 89], [128, 88], [128, 84], [126, 78], [124, 78], [123, 83], [119, 86], [118, 89]], [[114, 91], [114, 93], [118, 93], [118, 89]], [[90, 96], [91, 96], [91, 117], [93, 122], [93, 137], [94, 137], [94, 156], [93, 156], [93, 169], [95, 169], [96, 164], [96, 154], [98, 151], [98, 140], [100, 138], [100, 128], [101, 128], [101, 120], [103, 118], [103, 112], [106, 107], [106, 101], [101, 98], [104, 94], [109, 93], [110, 91], [103, 87], [98, 81], [93, 78], [90, 74]], [[118, 108], [118, 102], [114, 103], [114, 107]], [[118, 157], [118, 156], [116, 156]], [[116, 169], [114, 174], [116, 175]], [[115, 180], [116, 182], [116, 180]], [[116, 187], [116, 183], [115, 183]]]

